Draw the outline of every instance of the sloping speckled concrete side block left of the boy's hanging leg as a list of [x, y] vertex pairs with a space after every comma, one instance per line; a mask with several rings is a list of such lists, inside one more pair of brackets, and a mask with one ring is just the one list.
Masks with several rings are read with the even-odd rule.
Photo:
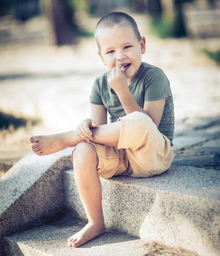
[[64, 214], [62, 172], [72, 166], [69, 154], [30, 153], [0, 178], [0, 251], [3, 236]]

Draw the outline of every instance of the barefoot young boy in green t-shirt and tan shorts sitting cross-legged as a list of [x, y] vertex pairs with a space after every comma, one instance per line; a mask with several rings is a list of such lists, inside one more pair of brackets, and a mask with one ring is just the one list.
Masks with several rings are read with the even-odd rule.
[[95, 37], [98, 54], [110, 71], [93, 84], [91, 119], [76, 131], [30, 138], [39, 156], [75, 146], [71, 156], [75, 182], [89, 222], [69, 237], [70, 247], [105, 232], [99, 177], [150, 177], [169, 169], [173, 160], [169, 81], [161, 69], [141, 61], [145, 38], [136, 22], [125, 13], [110, 13], [99, 20]]

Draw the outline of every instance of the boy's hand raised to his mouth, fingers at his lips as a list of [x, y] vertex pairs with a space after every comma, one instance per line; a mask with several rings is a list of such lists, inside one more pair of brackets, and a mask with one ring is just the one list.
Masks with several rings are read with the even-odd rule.
[[121, 70], [122, 65], [119, 64], [110, 71], [107, 76], [107, 81], [110, 87], [117, 93], [121, 93], [125, 88], [128, 87], [126, 76], [124, 75], [124, 70]]

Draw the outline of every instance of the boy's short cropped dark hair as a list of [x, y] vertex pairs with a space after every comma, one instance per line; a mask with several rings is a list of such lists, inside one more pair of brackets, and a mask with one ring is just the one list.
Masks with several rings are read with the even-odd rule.
[[124, 24], [128, 24], [130, 26], [132, 26], [134, 34], [137, 38], [138, 41], [141, 40], [141, 35], [140, 32], [138, 30], [137, 24], [135, 22], [135, 20], [133, 19], [133, 17], [131, 17], [130, 15], [128, 15], [127, 13], [124, 12], [111, 12], [107, 15], [105, 15], [104, 17], [102, 17], [95, 28], [94, 31], [94, 35], [96, 38], [96, 43], [98, 45], [98, 49], [100, 50], [100, 45], [98, 44], [98, 35], [97, 35], [97, 31], [99, 27], [113, 27], [115, 25], [124, 25]]

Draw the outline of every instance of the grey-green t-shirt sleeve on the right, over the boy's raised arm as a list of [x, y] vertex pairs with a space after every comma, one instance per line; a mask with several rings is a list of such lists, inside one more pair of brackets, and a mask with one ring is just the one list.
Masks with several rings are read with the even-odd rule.
[[172, 96], [170, 82], [163, 70], [153, 68], [145, 79], [145, 101]]

